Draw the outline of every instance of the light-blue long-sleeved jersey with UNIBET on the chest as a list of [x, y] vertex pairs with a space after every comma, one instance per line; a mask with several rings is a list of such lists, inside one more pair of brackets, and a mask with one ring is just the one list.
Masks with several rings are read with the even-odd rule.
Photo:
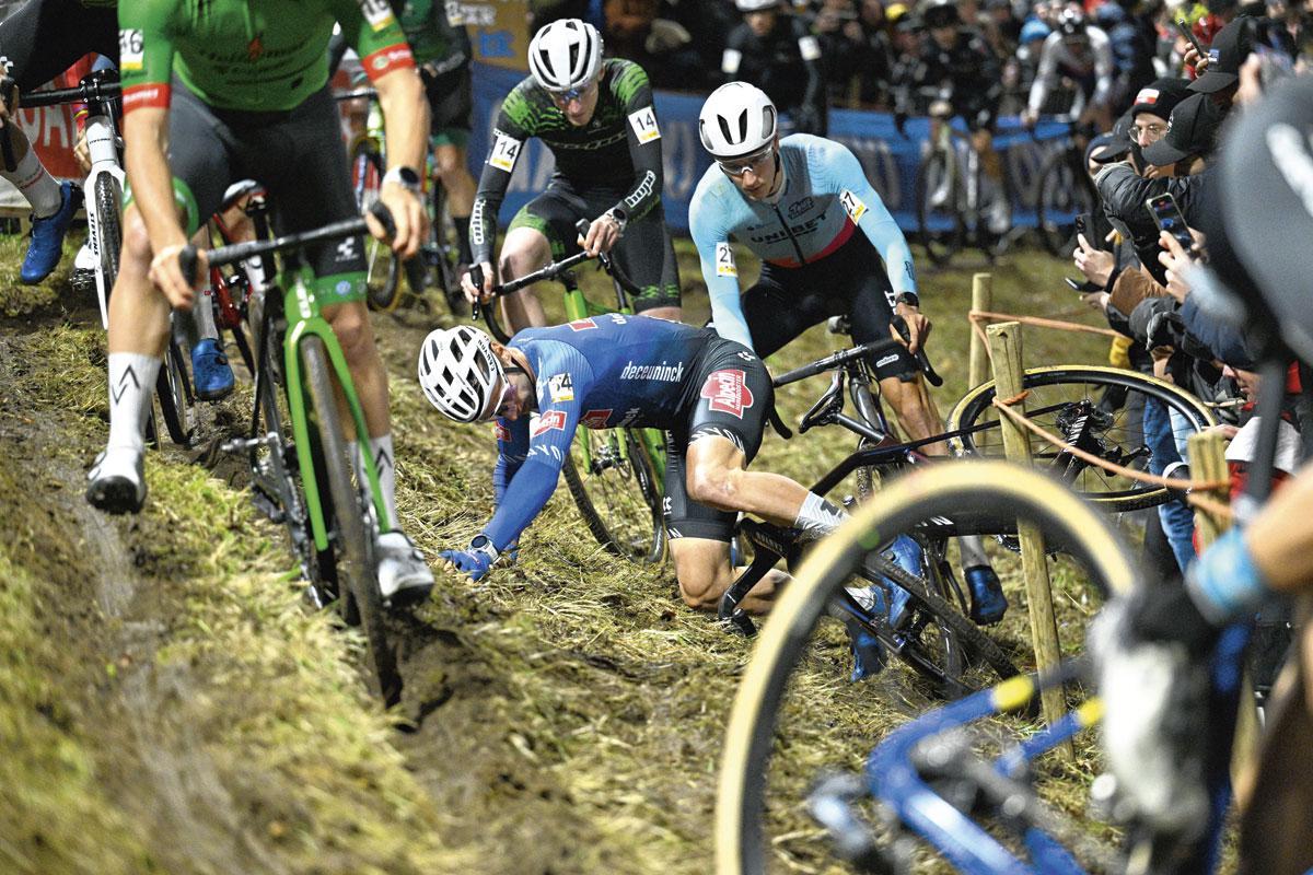
[[916, 291], [907, 240], [847, 147], [822, 136], [794, 134], [780, 140], [780, 160], [784, 184], [773, 203], [748, 199], [712, 164], [688, 210], [716, 329], [750, 349], [752, 337], [739, 306], [738, 266], [730, 237], [763, 261], [800, 268], [832, 253], [860, 227], [885, 260], [893, 294]]

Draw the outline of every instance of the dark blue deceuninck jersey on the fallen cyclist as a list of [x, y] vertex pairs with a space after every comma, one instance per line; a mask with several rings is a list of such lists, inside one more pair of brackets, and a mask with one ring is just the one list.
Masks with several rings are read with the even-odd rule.
[[532, 424], [528, 415], [495, 424], [496, 513], [484, 529], [492, 546], [504, 550], [538, 516], [579, 425], [681, 424], [699, 397], [702, 356], [717, 340], [706, 328], [618, 314], [519, 332], [508, 345], [529, 359], [538, 415]]

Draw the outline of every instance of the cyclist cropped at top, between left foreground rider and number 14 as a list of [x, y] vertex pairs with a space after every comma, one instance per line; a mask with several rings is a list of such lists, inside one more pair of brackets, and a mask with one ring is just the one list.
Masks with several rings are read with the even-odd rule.
[[[446, 209], [456, 223], [462, 265], [470, 254], [470, 210], [474, 209], [474, 177], [465, 147], [470, 140], [470, 37], [465, 25], [453, 22], [440, 0], [406, 0], [398, 18], [419, 66], [432, 113], [429, 146], [433, 171], [446, 190]], [[465, 268], [461, 268], [461, 273]]]

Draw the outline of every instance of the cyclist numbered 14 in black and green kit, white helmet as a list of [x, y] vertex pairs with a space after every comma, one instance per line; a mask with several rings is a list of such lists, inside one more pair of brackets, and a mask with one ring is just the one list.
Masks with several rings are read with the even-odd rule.
[[[516, 214], [502, 245], [502, 281], [523, 277], [576, 248], [575, 223], [587, 219], [584, 249], [608, 252], [642, 290], [638, 312], [680, 317], [675, 247], [660, 206], [660, 130], [642, 67], [601, 59], [601, 37], [578, 18], [546, 25], [529, 43], [529, 72], [502, 104], [470, 219], [470, 249], [483, 289], [466, 274], [465, 295], [487, 295], [492, 282], [496, 215], [515, 163], [530, 136], [555, 156], [548, 190]], [[545, 325], [538, 300], [502, 299], [512, 329]]]

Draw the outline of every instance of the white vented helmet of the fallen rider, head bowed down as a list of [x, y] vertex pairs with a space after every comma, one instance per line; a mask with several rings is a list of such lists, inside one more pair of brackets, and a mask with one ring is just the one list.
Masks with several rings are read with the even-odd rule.
[[492, 415], [492, 395], [506, 379], [492, 341], [473, 325], [429, 332], [419, 350], [419, 384], [429, 403], [457, 422], [478, 422]]

